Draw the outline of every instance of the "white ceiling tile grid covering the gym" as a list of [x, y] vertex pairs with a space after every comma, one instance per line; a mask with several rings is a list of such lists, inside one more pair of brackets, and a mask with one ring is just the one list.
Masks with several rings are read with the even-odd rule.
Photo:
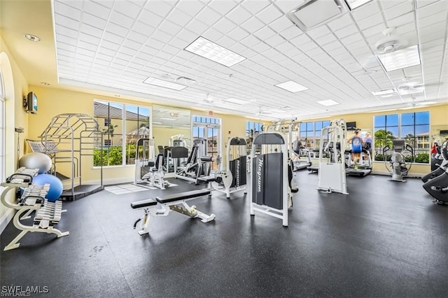
[[[391, 100], [377, 99], [371, 92], [395, 89], [405, 76], [435, 84], [447, 79], [441, 66], [447, 56], [444, 0], [424, 5], [416, 1], [417, 11], [410, 0], [373, 0], [307, 32], [285, 16], [301, 1], [139, 2], [144, 8], [132, 1], [72, 2], [55, 0], [59, 78], [108, 87], [120, 84], [149, 98], [167, 97], [167, 102], [202, 102], [210, 94], [214, 102], [203, 106], [225, 111], [225, 105], [213, 105], [230, 96], [254, 99], [255, 106], [267, 109], [303, 101], [307, 104], [295, 110], [300, 117], [327, 109], [336, 113], [389, 105]], [[410, 45], [421, 46], [421, 65], [396, 73], [381, 68], [374, 47], [385, 38], [382, 31], [387, 27], [395, 27], [395, 34]], [[184, 50], [199, 36], [246, 59], [229, 68]], [[144, 84], [148, 76], [187, 77], [195, 83], [174, 91]], [[274, 86], [287, 80], [309, 89], [291, 93]], [[446, 98], [442, 89], [428, 86], [427, 93]], [[339, 104], [316, 103], [327, 99]], [[403, 100], [397, 99], [400, 104]]]

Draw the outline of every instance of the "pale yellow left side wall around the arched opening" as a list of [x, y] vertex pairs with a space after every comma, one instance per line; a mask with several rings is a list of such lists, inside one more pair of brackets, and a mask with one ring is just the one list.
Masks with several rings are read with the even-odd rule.
[[[8, 47], [3, 42], [0, 36], [0, 67], [3, 73], [3, 80], [5, 83], [5, 95], [6, 95], [6, 119], [5, 119], [5, 143], [6, 146], [6, 164], [4, 173], [6, 176], [15, 172], [17, 165], [17, 155], [23, 154], [23, 146], [20, 146], [20, 152], [18, 152], [18, 138], [19, 143], [23, 143], [23, 140], [27, 136], [27, 113], [22, 109], [22, 99], [25, 94], [28, 93], [28, 83], [20, 71], [17, 63], [10, 54]], [[14, 132], [15, 127], [25, 128], [25, 132], [22, 134], [16, 134]], [[8, 199], [13, 201], [15, 199], [13, 193], [9, 193]], [[0, 219], [3, 215], [6, 215], [8, 208], [0, 204]]]

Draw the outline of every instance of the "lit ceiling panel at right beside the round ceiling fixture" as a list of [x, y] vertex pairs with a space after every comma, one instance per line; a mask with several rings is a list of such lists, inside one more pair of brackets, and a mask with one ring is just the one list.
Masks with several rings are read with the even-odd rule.
[[396, 50], [395, 52], [388, 52], [378, 55], [378, 58], [386, 71], [395, 71], [397, 69], [419, 65], [419, 46], [413, 45], [412, 47]]

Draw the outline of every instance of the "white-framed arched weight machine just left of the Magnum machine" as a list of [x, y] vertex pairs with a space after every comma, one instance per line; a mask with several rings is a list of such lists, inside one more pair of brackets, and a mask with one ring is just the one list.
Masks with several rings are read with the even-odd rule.
[[247, 183], [247, 147], [244, 138], [230, 138], [226, 146], [225, 169], [217, 171], [212, 183], [214, 190], [225, 193], [230, 199], [230, 194], [244, 191], [246, 194]]

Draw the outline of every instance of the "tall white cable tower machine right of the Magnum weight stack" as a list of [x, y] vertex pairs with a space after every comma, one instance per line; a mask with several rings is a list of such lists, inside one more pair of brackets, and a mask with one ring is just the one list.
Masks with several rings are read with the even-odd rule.
[[321, 144], [324, 145], [319, 149], [317, 190], [349, 194], [346, 184], [345, 158], [341, 153], [345, 151], [343, 149], [345, 143], [344, 120], [333, 120], [330, 126], [321, 129]]

